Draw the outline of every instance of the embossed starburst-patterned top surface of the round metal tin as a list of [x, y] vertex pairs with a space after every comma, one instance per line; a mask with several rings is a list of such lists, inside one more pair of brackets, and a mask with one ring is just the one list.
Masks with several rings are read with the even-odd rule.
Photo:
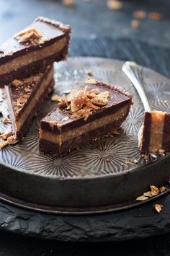
[[[138, 149], [138, 131], [143, 123], [143, 105], [133, 85], [121, 71], [122, 64], [122, 61], [106, 58], [68, 58], [66, 62], [55, 64], [54, 92], [66, 96], [71, 89], [88, 77], [86, 70], [90, 69], [94, 79], [114, 84], [133, 94], [134, 105], [128, 118], [122, 123], [120, 135], [102, 139], [65, 157], [41, 155], [38, 150], [39, 122], [56, 105], [56, 102], [48, 100], [34, 119], [24, 140], [0, 151], [1, 164], [22, 172], [56, 179], [105, 177], [146, 165]], [[169, 79], [144, 68], [143, 86], [152, 109], [170, 110]], [[3, 109], [3, 115], [8, 115], [6, 107]], [[0, 123], [2, 130], [7, 126]], [[158, 159], [162, 157], [164, 156], [158, 156]], [[134, 160], [138, 163], [134, 163]], [[149, 162], [152, 161], [155, 160], [150, 157]]]

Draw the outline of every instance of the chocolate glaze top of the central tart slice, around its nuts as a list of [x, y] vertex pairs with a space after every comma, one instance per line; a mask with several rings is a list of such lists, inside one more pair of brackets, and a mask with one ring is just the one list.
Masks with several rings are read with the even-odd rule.
[[[84, 84], [81, 88], [84, 87], [86, 87], [87, 91], [91, 89], [98, 89], [99, 92], [108, 91], [110, 94], [108, 104], [101, 107], [99, 110], [95, 110], [86, 120], [84, 120], [84, 118], [71, 118], [69, 112], [63, 112], [57, 105], [45, 118], [41, 120], [41, 128], [55, 132], [66, 131], [68, 128], [75, 128], [80, 125], [84, 125], [91, 122], [91, 120], [113, 113], [124, 105], [132, 103], [132, 96], [130, 94], [112, 85], [102, 83], [101, 81], [97, 81], [97, 84]], [[54, 125], [50, 125], [51, 121], [54, 121]]]

